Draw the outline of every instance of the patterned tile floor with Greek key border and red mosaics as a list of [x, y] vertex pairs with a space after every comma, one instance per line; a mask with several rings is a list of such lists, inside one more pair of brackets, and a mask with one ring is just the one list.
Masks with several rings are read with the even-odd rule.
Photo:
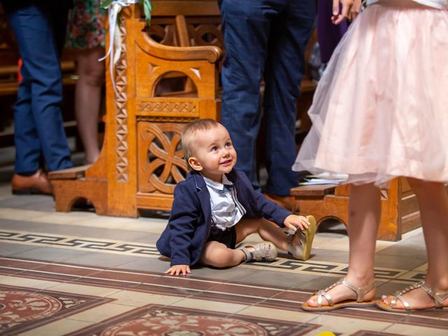
[[[271, 263], [165, 276], [169, 261], [155, 241], [166, 216], [57, 213], [52, 197], [11, 195], [9, 178], [0, 170], [1, 335], [448, 335], [446, 312], [299, 308], [346, 272], [341, 225], [318, 233], [307, 262], [281, 253]], [[378, 242], [378, 295], [425, 272], [421, 230]]]

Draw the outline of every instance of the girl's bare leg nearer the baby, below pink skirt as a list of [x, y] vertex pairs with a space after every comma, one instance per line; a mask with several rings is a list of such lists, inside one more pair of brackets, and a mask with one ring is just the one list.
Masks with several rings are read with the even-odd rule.
[[[351, 186], [349, 200], [349, 272], [346, 279], [356, 287], [368, 286], [374, 279], [373, 265], [377, 239], [379, 218], [381, 216], [381, 194], [379, 188], [372, 183]], [[353, 290], [340, 284], [328, 290], [334, 303], [356, 299]], [[364, 296], [364, 300], [372, 300], [374, 288]], [[309, 306], [317, 307], [317, 296], [307, 301]], [[323, 298], [323, 306], [328, 302]]]

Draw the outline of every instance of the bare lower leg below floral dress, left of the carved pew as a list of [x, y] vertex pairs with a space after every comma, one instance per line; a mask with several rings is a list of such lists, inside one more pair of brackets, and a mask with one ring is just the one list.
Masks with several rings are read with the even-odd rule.
[[98, 62], [98, 59], [103, 55], [104, 48], [97, 47], [80, 50], [77, 57], [79, 78], [76, 83], [75, 114], [87, 163], [95, 162], [99, 155], [98, 118], [104, 62]]

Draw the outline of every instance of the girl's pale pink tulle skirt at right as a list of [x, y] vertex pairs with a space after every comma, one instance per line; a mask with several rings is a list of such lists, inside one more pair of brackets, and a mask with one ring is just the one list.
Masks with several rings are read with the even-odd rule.
[[308, 112], [294, 170], [448, 181], [448, 11], [367, 7], [337, 46]]

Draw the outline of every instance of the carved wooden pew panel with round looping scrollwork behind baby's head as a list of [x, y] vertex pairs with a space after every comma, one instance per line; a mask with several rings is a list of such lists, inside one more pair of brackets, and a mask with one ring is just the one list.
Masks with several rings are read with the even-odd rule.
[[187, 163], [181, 148], [181, 123], [139, 122], [139, 192], [173, 194], [185, 179]]

